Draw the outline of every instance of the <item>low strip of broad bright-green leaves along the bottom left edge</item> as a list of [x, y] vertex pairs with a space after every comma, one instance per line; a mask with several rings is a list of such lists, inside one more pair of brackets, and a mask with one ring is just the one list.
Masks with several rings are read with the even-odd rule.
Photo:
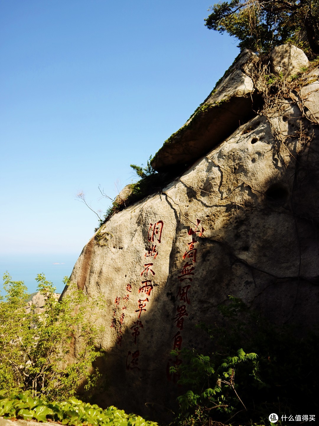
[[114, 425], [114, 426], [156, 426], [157, 423], [144, 420], [135, 414], [110, 406], [103, 410], [97, 405], [85, 404], [76, 398], [63, 402], [51, 402], [46, 397], [32, 398], [30, 392], [8, 394], [0, 391], [0, 416], [23, 418], [46, 422], [54, 420], [63, 425]]

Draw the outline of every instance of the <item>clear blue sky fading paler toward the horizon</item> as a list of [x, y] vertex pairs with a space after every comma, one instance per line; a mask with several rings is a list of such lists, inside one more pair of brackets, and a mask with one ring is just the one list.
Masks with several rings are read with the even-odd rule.
[[[0, 255], [79, 256], [233, 62], [209, 0], [0, 1]], [[41, 271], [39, 271], [41, 272]]]

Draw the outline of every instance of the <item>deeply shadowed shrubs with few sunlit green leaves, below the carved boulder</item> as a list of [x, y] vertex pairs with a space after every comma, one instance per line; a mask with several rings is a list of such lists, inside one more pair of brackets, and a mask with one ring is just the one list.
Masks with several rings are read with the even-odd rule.
[[182, 350], [183, 363], [171, 368], [186, 390], [173, 424], [269, 424], [271, 413], [318, 412], [317, 336], [277, 327], [235, 297], [219, 310], [222, 325], [200, 326], [210, 350]]

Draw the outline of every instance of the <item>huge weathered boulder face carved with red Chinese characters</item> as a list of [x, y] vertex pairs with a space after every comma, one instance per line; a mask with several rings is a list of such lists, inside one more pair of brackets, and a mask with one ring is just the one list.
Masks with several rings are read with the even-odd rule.
[[[229, 294], [278, 322], [318, 321], [316, 75], [310, 73], [311, 84], [303, 80], [307, 109], [298, 91], [267, 113], [251, 109], [251, 119], [225, 140], [219, 136], [182, 176], [115, 214], [85, 246], [71, 281], [108, 303], [97, 342], [107, 351], [99, 365], [107, 383], [94, 402], [160, 418], [179, 391], [169, 371], [179, 363], [172, 349], [202, 348], [195, 325], [214, 323]], [[236, 93], [234, 82], [218, 87]], [[247, 90], [236, 98], [246, 102], [251, 83]], [[224, 126], [228, 118], [220, 114]], [[189, 132], [183, 146], [205, 139], [205, 129], [198, 139]], [[166, 167], [178, 147], [174, 141], [157, 164]]]

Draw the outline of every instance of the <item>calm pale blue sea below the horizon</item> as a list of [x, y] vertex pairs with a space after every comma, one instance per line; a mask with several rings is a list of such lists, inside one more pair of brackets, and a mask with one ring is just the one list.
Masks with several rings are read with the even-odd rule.
[[77, 258], [77, 254], [14, 254], [0, 255], [0, 291], [3, 293], [3, 273], [8, 271], [13, 281], [24, 281], [29, 293], [37, 291], [35, 277], [38, 273], [44, 273], [46, 279], [51, 281], [61, 293], [64, 284], [64, 276], [70, 276]]

